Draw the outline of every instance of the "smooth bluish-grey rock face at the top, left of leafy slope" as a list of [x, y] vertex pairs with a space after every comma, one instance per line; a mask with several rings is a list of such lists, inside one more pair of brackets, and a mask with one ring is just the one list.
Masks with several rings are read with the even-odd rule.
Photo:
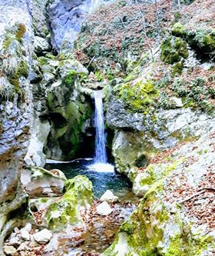
[[[109, 0], [110, 1], [110, 0]], [[51, 28], [51, 43], [57, 50], [73, 48], [74, 40], [81, 31], [86, 15], [96, 5], [108, 0], [54, 0], [47, 7]]]

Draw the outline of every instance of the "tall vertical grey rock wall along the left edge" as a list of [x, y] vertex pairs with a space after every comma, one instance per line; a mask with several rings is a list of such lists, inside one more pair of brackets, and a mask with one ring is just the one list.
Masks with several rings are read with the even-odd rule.
[[2, 239], [16, 222], [9, 214], [26, 203], [19, 180], [33, 120], [28, 79], [33, 51], [30, 7], [29, 1], [1, 1], [0, 7], [0, 254]]

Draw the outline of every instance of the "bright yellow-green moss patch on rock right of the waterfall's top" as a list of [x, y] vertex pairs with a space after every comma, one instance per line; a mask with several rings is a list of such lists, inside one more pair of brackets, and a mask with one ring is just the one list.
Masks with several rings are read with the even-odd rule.
[[124, 102], [125, 108], [145, 114], [151, 105], [154, 105], [158, 96], [158, 91], [154, 88], [154, 81], [139, 81], [135, 85], [129, 83], [117, 85], [114, 91], [115, 95]]

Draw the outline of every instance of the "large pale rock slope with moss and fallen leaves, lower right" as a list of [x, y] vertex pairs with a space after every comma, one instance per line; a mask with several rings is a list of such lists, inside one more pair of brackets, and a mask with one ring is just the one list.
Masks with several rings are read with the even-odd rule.
[[214, 120], [196, 118], [190, 125], [197, 138], [136, 168], [133, 191], [143, 199], [102, 255], [213, 255]]

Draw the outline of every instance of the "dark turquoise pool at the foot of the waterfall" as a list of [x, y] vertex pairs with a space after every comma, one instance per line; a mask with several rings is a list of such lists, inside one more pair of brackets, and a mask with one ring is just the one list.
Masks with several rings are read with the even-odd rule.
[[64, 172], [67, 178], [74, 178], [77, 175], [86, 175], [93, 183], [94, 195], [100, 198], [107, 189], [117, 195], [121, 201], [132, 198], [131, 182], [124, 175], [114, 172], [96, 171], [89, 166], [93, 165], [93, 160], [77, 159], [69, 163], [47, 164], [48, 170], [59, 169]]

